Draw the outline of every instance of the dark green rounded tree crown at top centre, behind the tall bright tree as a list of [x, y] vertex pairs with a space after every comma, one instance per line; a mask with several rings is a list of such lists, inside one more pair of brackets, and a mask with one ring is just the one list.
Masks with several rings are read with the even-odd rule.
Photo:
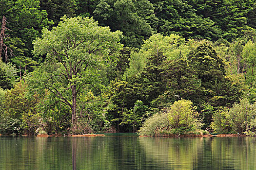
[[99, 0], [94, 14], [100, 25], [122, 31], [121, 42], [129, 47], [139, 48], [153, 33], [148, 18], [154, 17], [154, 7], [148, 0]]

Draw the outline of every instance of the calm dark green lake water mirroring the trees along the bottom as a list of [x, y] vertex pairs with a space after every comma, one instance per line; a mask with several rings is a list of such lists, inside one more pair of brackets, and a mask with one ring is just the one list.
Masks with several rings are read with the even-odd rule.
[[255, 137], [0, 137], [0, 170], [256, 170]]

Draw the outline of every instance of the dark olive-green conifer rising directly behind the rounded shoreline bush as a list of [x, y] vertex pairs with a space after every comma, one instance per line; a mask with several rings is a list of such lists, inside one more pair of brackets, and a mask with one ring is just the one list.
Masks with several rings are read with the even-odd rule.
[[192, 100], [195, 104], [203, 100], [204, 89], [187, 59], [172, 60], [163, 65], [162, 76], [167, 87], [152, 104], [166, 107], [179, 99]]

